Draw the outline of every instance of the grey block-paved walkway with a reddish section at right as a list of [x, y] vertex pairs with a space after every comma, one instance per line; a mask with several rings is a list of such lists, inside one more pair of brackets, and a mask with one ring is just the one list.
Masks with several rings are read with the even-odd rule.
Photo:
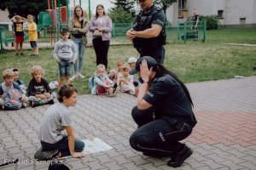
[[[256, 77], [187, 84], [195, 104], [198, 124], [184, 142], [194, 154], [176, 169], [256, 169]], [[65, 162], [73, 169], [174, 169], [166, 159], [143, 156], [132, 150], [128, 139], [136, 129], [131, 119], [135, 97], [120, 94], [79, 96], [72, 108], [73, 124], [79, 139], [99, 137], [113, 150]], [[19, 158], [18, 164], [3, 169], [47, 169], [33, 154], [40, 146], [38, 129], [49, 105], [20, 111], [0, 112], [0, 164]], [[1, 169], [1, 168], [0, 168]]]

